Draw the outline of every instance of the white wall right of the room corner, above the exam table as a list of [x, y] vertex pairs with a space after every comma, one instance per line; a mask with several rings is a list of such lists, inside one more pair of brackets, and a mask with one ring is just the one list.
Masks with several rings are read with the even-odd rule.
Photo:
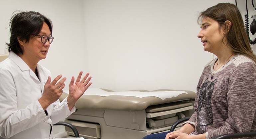
[[196, 91], [213, 55], [197, 38], [199, 12], [234, 0], [84, 1], [93, 87]]

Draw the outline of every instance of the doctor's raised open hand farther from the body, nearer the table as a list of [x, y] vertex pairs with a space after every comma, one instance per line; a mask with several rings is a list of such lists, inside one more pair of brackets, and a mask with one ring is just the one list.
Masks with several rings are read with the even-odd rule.
[[89, 81], [91, 80], [91, 76], [89, 76], [89, 73], [86, 73], [80, 81], [82, 74], [83, 72], [80, 71], [76, 80], [74, 76], [72, 76], [71, 81], [68, 85], [69, 94], [67, 96], [67, 105], [69, 110], [71, 110], [74, 107], [75, 102], [83, 95], [85, 90], [88, 89], [88, 87], [91, 85], [91, 82], [89, 83]]

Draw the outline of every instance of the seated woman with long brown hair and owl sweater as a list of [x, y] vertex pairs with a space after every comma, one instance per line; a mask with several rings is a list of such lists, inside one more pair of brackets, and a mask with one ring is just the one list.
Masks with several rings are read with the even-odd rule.
[[219, 3], [202, 12], [198, 23], [204, 51], [217, 58], [203, 69], [195, 112], [180, 130], [145, 139], [209, 139], [256, 131], [256, 57], [239, 10], [233, 4]]

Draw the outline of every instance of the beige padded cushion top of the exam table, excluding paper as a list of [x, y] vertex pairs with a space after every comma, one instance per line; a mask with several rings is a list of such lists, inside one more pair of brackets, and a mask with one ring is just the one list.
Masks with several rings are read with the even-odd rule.
[[[113, 92], [111, 90], [102, 89], [107, 92]], [[147, 90], [133, 90], [146, 92]], [[157, 91], [175, 91], [169, 89], [154, 90]], [[164, 100], [155, 97], [133, 97], [133, 96], [120, 96], [120, 95], [110, 95], [110, 96], [99, 96], [99, 95], [83, 95], [75, 104], [76, 109], [96, 109], [96, 110], [120, 110], [120, 111], [142, 111], [148, 106], [177, 102], [182, 100], [195, 99], [195, 92], [187, 91], [187, 94], [182, 93], [177, 97], [170, 97]], [[85, 92], [86, 93], [86, 92]], [[96, 94], [96, 93], [95, 93]], [[67, 97], [67, 93], [63, 92], [60, 97], [60, 101]], [[167, 96], [169, 94], [166, 94]], [[171, 96], [171, 95], [170, 95]]]

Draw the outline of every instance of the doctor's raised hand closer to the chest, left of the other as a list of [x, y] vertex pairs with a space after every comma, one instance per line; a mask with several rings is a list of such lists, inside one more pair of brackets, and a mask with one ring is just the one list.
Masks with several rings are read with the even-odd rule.
[[44, 111], [48, 106], [50, 106], [61, 97], [63, 93], [62, 89], [65, 87], [64, 81], [66, 80], [66, 77], [62, 79], [61, 77], [62, 75], [58, 75], [52, 82], [51, 77], [48, 77], [45, 83], [43, 96], [38, 100]]

